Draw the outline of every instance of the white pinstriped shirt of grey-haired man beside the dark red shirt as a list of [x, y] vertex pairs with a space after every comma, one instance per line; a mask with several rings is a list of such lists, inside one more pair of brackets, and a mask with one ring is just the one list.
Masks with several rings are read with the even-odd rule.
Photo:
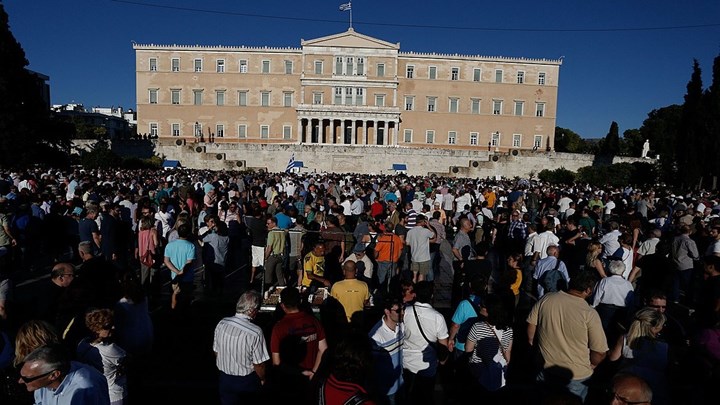
[[218, 323], [213, 350], [217, 353], [218, 370], [228, 375], [250, 375], [254, 364], [270, 359], [262, 329], [245, 314], [235, 314]]

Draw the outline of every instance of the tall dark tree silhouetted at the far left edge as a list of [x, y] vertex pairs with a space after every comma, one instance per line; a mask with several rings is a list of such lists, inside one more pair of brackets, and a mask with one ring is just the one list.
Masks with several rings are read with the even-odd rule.
[[0, 3], [0, 164], [24, 165], [38, 161], [48, 148], [69, 147], [64, 131], [54, 132], [40, 81], [28, 71], [28, 61], [10, 31]]

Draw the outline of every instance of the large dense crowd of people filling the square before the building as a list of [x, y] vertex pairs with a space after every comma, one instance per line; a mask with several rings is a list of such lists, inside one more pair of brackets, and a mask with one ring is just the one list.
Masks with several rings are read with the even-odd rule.
[[696, 404], [720, 386], [705, 190], [29, 169], [0, 172], [0, 228], [2, 403], [143, 403], [150, 309], [191, 323], [198, 296], [235, 306], [212, 347], [222, 404]]

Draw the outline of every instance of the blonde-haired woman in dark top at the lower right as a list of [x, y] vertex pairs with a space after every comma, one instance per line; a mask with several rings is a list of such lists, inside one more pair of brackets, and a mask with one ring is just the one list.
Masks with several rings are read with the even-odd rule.
[[[621, 372], [635, 374], [647, 381], [653, 393], [659, 394], [656, 397], [659, 401], [667, 398], [669, 346], [657, 339], [665, 321], [665, 314], [654, 308], [639, 310], [627, 334], [618, 338], [609, 356], [611, 361], [622, 359]], [[654, 398], [655, 403], [660, 402]]]

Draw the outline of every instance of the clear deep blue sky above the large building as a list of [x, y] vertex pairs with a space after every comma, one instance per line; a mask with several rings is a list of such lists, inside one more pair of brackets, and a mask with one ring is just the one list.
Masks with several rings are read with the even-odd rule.
[[[29, 67], [50, 76], [53, 104], [135, 109], [131, 41], [299, 47], [301, 39], [347, 29], [348, 13], [338, 10], [343, 2], [3, 4]], [[621, 133], [639, 128], [651, 110], [682, 103], [693, 58], [707, 87], [720, 54], [718, 0], [356, 0], [352, 8], [356, 31], [400, 42], [401, 51], [563, 56], [557, 125], [585, 138], [605, 136], [612, 121]]]

